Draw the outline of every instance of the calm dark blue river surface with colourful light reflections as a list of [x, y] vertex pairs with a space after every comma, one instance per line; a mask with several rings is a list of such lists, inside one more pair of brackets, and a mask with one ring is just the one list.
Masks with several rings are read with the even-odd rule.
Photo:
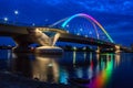
[[59, 56], [0, 50], [0, 72], [55, 84], [83, 78], [90, 80], [89, 88], [133, 88], [133, 54], [65, 52]]

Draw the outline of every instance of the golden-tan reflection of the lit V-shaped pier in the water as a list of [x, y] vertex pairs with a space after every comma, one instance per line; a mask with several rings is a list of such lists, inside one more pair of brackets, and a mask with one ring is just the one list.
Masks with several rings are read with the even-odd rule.
[[59, 65], [55, 63], [55, 57], [35, 56], [32, 62], [32, 77], [39, 78], [41, 81], [58, 82]]

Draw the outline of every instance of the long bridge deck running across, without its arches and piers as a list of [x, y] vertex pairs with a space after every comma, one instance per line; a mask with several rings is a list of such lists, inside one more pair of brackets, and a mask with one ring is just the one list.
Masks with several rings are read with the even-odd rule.
[[[0, 23], [0, 36], [3, 35], [28, 35], [29, 31], [28, 30], [34, 30], [39, 29], [42, 32], [58, 32], [60, 33], [59, 41], [63, 42], [72, 42], [72, 43], [80, 43], [80, 44], [89, 44], [89, 45], [96, 45], [96, 46], [104, 46], [104, 47], [114, 47], [114, 43], [96, 40], [93, 37], [84, 37], [80, 35], [73, 35], [70, 33], [66, 33], [66, 31], [62, 29], [54, 29], [54, 28], [33, 28], [33, 26], [18, 26], [18, 25], [11, 25], [11, 24], [2, 24]], [[124, 47], [121, 46], [121, 48], [125, 50]]]

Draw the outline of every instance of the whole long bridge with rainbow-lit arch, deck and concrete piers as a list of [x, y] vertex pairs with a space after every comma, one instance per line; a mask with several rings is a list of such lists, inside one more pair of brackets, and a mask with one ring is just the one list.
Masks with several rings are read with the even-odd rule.
[[[81, 33], [73, 33], [71, 30], [68, 30], [65, 26], [75, 18], [83, 18], [88, 20], [94, 29], [96, 37], [89, 36], [88, 31], [83, 29], [80, 30]], [[63, 23], [62, 23], [63, 22]], [[57, 29], [55, 25], [61, 24], [61, 29]], [[108, 37], [108, 41], [103, 41], [100, 38], [100, 34], [98, 32], [96, 25], [101, 29], [101, 31]], [[86, 33], [86, 34], [84, 34]], [[99, 46], [99, 51], [101, 48], [113, 48], [115, 52], [127, 51], [126, 47], [120, 46], [114, 43], [109, 33], [104, 30], [104, 28], [91, 15], [79, 13], [72, 16], [62, 19], [49, 26], [18, 26], [11, 24], [0, 24], [0, 36], [11, 36], [16, 43], [17, 48], [25, 50], [30, 44], [38, 43], [41, 46], [54, 46], [57, 41], [61, 42], [71, 42], [71, 43], [80, 43], [88, 45]]]

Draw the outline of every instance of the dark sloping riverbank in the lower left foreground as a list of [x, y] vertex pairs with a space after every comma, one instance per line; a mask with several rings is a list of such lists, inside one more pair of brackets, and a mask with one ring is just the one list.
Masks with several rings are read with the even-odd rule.
[[70, 85], [49, 84], [0, 72], [0, 88], [76, 88]]

